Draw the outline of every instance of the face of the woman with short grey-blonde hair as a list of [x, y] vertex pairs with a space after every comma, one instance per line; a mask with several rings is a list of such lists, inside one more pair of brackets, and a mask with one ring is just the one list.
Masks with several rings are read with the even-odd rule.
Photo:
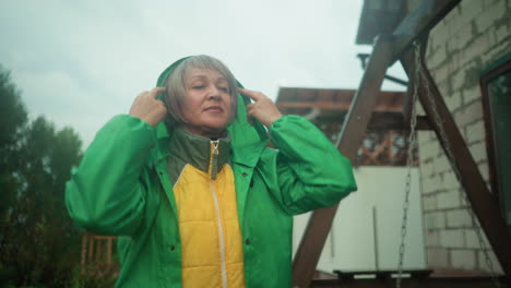
[[200, 136], [219, 136], [233, 119], [227, 80], [215, 70], [192, 68], [185, 83], [183, 128]]

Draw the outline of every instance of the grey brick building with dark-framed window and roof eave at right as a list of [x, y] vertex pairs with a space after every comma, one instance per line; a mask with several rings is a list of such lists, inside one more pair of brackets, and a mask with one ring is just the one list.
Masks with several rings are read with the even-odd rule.
[[[427, 4], [366, 0], [357, 44], [371, 44], [376, 35], [392, 33], [405, 15]], [[506, 148], [511, 145], [506, 133], [511, 131], [511, 1], [462, 0], [431, 29], [424, 48], [427, 68], [511, 231], [511, 187], [504, 177], [511, 168], [511, 152]], [[498, 86], [494, 92], [488, 91], [491, 81]], [[435, 132], [418, 132], [418, 142], [427, 267], [487, 272], [477, 224]], [[488, 252], [495, 271], [502, 273], [492, 251]]]

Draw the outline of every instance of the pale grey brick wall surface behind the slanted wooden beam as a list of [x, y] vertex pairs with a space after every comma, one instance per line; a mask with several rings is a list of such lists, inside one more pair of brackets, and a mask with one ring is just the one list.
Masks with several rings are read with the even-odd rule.
[[[408, 4], [413, 9], [416, 2]], [[511, 0], [463, 0], [431, 31], [426, 53], [428, 68], [487, 181], [479, 74], [511, 51], [510, 15]], [[418, 141], [428, 266], [487, 271], [463, 190], [435, 133], [420, 132]], [[492, 253], [491, 259], [501, 272]]]

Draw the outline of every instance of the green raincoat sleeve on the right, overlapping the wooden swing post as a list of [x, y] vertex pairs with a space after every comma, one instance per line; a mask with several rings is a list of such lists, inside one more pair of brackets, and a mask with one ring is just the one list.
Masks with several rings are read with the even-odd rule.
[[288, 214], [332, 206], [357, 190], [349, 160], [305, 118], [284, 116], [270, 133], [278, 148], [275, 196]]

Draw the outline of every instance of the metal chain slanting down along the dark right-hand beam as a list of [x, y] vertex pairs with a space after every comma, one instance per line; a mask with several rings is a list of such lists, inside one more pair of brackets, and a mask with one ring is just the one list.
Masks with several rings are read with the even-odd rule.
[[[419, 50], [419, 48], [418, 48], [419, 45], [417, 43], [414, 43], [414, 45], [416, 47], [416, 50], [415, 50], [415, 52], [416, 52], [416, 57], [415, 57], [415, 60], [416, 60], [416, 74], [418, 73], [419, 77], [421, 77], [421, 80], [424, 81], [427, 98], [428, 98], [428, 101], [429, 101], [429, 104], [430, 104], [430, 106], [432, 108], [435, 122], [436, 122], [437, 127], [439, 128], [440, 139], [443, 141], [443, 144], [444, 144], [443, 146], [445, 148], [445, 154], [447, 154], [448, 160], [451, 164], [451, 167], [452, 167], [452, 169], [453, 169], [453, 171], [454, 171], [454, 173], [456, 176], [457, 181], [461, 183], [461, 172], [457, 169], [457, 166], [455, 165], [454, 156], [453, 156], [452, 151], [451, 151], [451, 143], [449, 142], [449, 139], [445, 135], [445, 131], [443, 130], [443, 125], [441, 124], [443, 121], [441, 120], [440, 115], [438, 113], [437, 104], [435, 101], [435, 98], [431, 95], [430, 87], [429, 87], [429, 82], [426, 79], [426, 75], [424, 74], [423, 62], [420, 61], [419, 56], [417, 56], [418, 55], [417, 51]], [[418, 72], [417, 72], [417, 70], [418, 70]], [[416, 81], [417, 81], [417, 75], [415, 75], [415, 76], [416, 76]], [[418, 85], [416, 85], [415, 87], [417, 87], [417, 86]], [[475, 214], [474, 214], [474, 209], [472, 208], [471, 202], [468, 201], [468, 199], [466, 196], [466, 193], [462, 192], [461, 194], [463, 195], [463, 201], [465, 202], [467, 211], [468, 211], [468, 213], [471, 215], [472, 223], [474, 225], [474, 230], [475, 230], [475, 232], [477, 235], [480, 249], [483, 250], [483, 253], [485, 254], [486, 265], [487, 265], [488, 269], [490, 271], [491, 279], [494, 280], [494, 284], [496, 285], [496, 287], [500, 288], [500, 281], [497, 279], [496, 272], [494, 269], [494, 263], [492, 263], [492, 261], [491, 261], [491, 259], [489, 256], [488, 248], [487, 248], [486, 242], [485, 242], [485, 240], [483, 238], [482, 228], [477, 223], [477, 219], [476, 219]]]

